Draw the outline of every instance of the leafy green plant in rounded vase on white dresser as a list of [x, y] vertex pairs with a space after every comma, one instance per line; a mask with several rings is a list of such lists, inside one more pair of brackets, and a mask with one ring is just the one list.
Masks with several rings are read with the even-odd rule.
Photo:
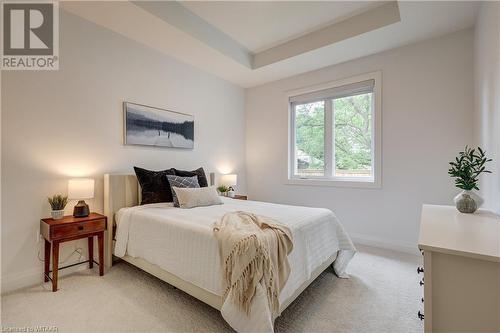
[[450, 162], [448, 174], [455, 178], [455, 186], [463, 190], [454, 199], [461, 213], [474, 213], [483, 204], [483, 199], [473, 190], [479, 190], [481, 173], [491, 173], [485, 166], [490, 161], [481, 148], [476, 150], [465, 146], [465, 150], [455, 157], [455, 161]]

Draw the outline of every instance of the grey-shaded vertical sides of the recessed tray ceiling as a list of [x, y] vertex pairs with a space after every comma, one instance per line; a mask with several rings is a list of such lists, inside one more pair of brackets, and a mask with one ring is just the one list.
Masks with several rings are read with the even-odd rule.
[[381, 3], [375, 8], [368, 8], [340, 22], [330, 23], [280, 45], [252, 53], [178, 2], [134, 1], [133, 3], [251, 69], [292, 58], [400, 21], [396, 1]]

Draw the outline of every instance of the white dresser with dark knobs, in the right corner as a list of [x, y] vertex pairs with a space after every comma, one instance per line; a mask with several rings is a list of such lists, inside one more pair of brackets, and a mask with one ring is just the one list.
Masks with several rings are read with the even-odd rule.
[[500, 332], [500, 217], [424, 205], [418, 243], [425, 332]]

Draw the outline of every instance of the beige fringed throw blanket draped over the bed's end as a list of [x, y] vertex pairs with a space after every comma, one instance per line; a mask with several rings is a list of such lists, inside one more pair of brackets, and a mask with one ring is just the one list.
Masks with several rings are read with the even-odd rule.
[[214, 226], [223, 265], [223, 300], [249, 314], [256, 286], [263, 284], [269, 309], [279, 312], [279, 294], [290, 274], [290, 230], [277, 221], [247, 212], [225, 214]]

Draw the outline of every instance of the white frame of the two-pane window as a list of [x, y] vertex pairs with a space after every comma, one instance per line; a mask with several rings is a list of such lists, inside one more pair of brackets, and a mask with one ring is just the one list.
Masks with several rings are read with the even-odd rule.
[[[349, 84], [355, 84], [367, 80], [374, 80], [372, 97], [372, 165], [373, 177], [363, 179], [362, 177], [335, 177], [332, 168], [335, 166], [335, 156], [333, 154], [333, 115], [331, 112], [332, 103], [325, 103], [325, 176], [301, 177], [295, 175], [295, 108], [290, 99], [302, 94], [318, 92], [320, 90], [337, 88]], [[357, 187], [357, 188], [381, 188], [382, 187], [382, 72], [371, 72], [356, 75], [346, 79], [326, 82], [315, 86], [296, 89], [286, 92], [286, 103], [288, 105], [288, 172], [286, 184], [308, 185], [308, 186], [336, 186], [336, 187]], [[332, 176], [328, 176], [332, 175]]]

